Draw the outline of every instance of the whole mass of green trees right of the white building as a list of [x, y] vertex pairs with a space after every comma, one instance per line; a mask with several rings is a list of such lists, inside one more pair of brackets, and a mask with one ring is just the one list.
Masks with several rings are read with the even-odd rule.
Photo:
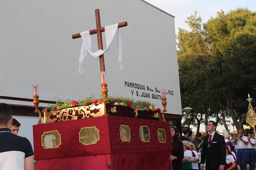
[[186, 21], [191, 31], [179, 28], [177, 36], [182, 106], [194, 111], [184, 125], [188, 118], [194, 124], [202, 121], [202, 115], [205, 122], [215, 117], [226, 125], [230, 115], [240, 129], [247, 94], [256, 96], [256, 13], [246, 8], [220, 11], [207, 23], [196, 14]]

